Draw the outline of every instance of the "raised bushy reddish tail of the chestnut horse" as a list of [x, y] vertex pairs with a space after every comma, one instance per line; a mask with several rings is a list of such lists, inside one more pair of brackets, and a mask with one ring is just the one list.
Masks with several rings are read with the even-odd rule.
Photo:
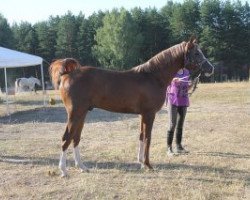
[[55, 89], [59, 88], [61, 76], [80, 68], [80, 64], [73, 58], [59, 59], [51, 63], [49, 72]]

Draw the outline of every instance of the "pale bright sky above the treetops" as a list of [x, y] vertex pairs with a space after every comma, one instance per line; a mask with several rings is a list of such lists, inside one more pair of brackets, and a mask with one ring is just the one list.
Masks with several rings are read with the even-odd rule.
[[99, 10], [121, 7], [127, 10], [134, 7], [160, 9], [166, 3], [167, 0], [0, 0], [0, 13], [10, 25], [22, 21], [34, 24], [48, 20], [49, 16], [64, 15], [68, 11], [74, 15], [82, 11], [88, 17]]

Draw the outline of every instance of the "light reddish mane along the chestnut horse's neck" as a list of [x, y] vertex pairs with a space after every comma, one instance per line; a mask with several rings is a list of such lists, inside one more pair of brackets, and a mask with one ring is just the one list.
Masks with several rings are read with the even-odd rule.
[[185, 46], [186, 42], [182, 42], [163, 50], [149, 59], [146, 63], [133, 67], [132, 70], [144, 73], [160, 71], [163, 67], [171, 66], [177, 59], [183, 57], [185, 55]]

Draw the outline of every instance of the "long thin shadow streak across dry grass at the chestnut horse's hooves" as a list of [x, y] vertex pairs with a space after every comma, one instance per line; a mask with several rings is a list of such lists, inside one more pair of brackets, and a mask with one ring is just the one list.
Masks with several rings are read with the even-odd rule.
[[[24, 157], [24, 156], [0, 156], [0, 162], [3, 163], [11, 163], [11, 164], [21, 164], [21, 165], [41, 165], [41, 166], [57, 166], [59, 163], [59, 159], [53, 158], [45, 158], [45, 157]], [[84, 164], [90, 170], [121, 170], [129, 173], [139, 173], [141, 170], [141, 165], [139, 163], [123, 163], [123, 162], [96, 162], [96, 161], [85, 161]], [[74, 160], [68, 159], [67, 166], [74, 167]], [[158, 163], [154, 165], [154, 170], [150, 170], [150, 172], [158, 172], [158, 171], [194, 171], [197, 173], [216, 173], [219, 176], [225, 179], [234, 179], [241, 181], [242, 177], [244, 180], [248, 180], [250, 178], [250, 172], [245, 170], [236, 170], [227, 167], [213, 167], [213, 166], [205, 166], [205, 165], [189, 165], [189, 164], [176, 164], [176, 163]], [[157, 178], [157, 177], [156, 177]], [[190, 180], [193, 178], [189, 178]], [[195, 180], [198, 180], [194, 177]], [[213, 181], [213, 180], [208, 180]]]

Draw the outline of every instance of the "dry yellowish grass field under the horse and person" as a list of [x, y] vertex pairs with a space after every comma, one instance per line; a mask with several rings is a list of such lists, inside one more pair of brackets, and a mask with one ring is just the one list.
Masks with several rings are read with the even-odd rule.
[[[0, 96], [4, 98], [4, 96]], [[89, 173], [58, 170], [66, 113], [42, 109], [42, 95], [11, 97], [11, 117], [0, 103], [0, 199], [250, 199], [250, 83], [200, 84], [191, 97], [184, 146], [166, 155], [167, 109], [157, 114], [150, 151], [154, 171], [137, 163], [139, 116], [94, 109], [80, 150]]]

